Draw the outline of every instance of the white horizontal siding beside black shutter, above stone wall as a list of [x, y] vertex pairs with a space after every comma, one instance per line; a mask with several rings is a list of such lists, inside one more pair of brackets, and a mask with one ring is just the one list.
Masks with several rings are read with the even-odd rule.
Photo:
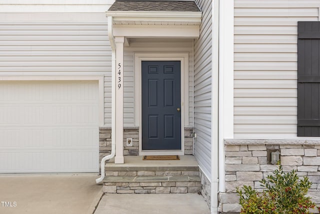
[[234, 0], [234, 138], [295, 138], [297, 22], [315, 0]]

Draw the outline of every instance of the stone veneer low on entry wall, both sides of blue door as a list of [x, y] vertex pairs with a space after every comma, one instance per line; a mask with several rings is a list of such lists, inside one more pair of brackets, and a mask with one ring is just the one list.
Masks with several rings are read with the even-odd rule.
[[[193, 128], [184, 128], [184, 154], [193, 152]], [[132, 138], [132, 146], [126, 146], [126, 138]], [[123, 155], [139, 155], [139, 127], [124, 127]], [[111, 153], [111, 128], [99, 127], [99, 168], [101, 159]]]

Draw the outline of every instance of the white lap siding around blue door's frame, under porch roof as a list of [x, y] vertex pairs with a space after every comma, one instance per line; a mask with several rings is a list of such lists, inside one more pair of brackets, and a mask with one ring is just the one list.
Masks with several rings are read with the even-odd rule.
[[[192, 40], [168, 39], [130, 39], [129, 46], [124, 47], [124, 126], [134, 126], [134, 53], [189, 53], [189, 124], [192, 124]], [[163, 55], [165, 57], [165, 55]]]

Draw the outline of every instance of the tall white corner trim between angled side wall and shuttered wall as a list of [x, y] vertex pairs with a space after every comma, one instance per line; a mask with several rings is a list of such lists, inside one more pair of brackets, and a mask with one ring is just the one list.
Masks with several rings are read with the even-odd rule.
[[224, 139], [233, 138], [233, 0], [219, 1], [219, 191], [224, 192]]

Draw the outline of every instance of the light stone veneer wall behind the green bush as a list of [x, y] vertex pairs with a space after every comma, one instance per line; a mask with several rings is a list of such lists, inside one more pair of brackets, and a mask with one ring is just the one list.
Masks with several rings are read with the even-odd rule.
[[[308, 196], [320, 204], [320, 141], [319, 140], [226, 140], [225, 192], [219, 193], [219, 211], [238, 213], [237, 186], [262, 190], [260, 180], [272, 174], [276, 165], [267, 164], [267, 149], [278, 149], [283, 170], [297, 170], [312, 182]], [[315, 211], [316, 212], [316, 211]]]

